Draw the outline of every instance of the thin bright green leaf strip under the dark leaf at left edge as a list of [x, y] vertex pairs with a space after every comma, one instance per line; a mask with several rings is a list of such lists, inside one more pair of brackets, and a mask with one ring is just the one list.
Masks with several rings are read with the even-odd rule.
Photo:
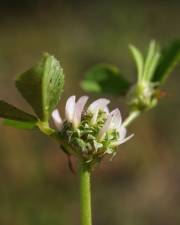
[[18, 129], [32, 130], [37, 129], [36, 122], [21, 122], [16, 120], [4, 120], [4, 125], [11, 126]]

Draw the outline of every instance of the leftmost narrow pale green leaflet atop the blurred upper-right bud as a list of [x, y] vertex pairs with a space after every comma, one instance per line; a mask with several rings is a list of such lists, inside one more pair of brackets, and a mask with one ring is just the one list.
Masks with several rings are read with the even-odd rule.
[[138, 73], [138, 81], [140, 81], [143, 77], [143, 67], [144, 67], [143, 55], [134, 45], [130, 45], [129, 49], [130, 49], [132, 56], [134, 58], [134, 61], [136, 63], [137, 73]]

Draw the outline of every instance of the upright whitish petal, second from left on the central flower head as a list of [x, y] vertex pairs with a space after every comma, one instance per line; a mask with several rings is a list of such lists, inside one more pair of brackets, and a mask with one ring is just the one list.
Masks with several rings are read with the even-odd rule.
[[67, 121], [72, 122], [73, 116], [74, 116], [74, 110], [75, 110], [75, 100], [76, 96], [73, 95], [68, 98], [66, 102], [66, 107], [65, 107], [65, 117]]

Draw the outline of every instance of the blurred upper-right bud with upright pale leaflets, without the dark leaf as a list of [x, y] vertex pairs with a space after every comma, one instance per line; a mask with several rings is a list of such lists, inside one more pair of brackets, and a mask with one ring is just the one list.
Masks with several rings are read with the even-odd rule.
[[130, 45], [130, 50], [137, 66], [137, 82], [128, 93], [128, 103], [131, 110], [148, 110], [158, 102], [159, 83], [154, 82], [153, 77], [160, 60], [160, 49], [155, 41], [151, 41], [145, 58], [135, 46]]

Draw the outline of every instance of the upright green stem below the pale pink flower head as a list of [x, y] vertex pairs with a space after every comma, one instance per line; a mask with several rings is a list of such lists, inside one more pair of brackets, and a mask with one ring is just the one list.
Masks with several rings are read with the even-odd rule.
[[81, 225], [92, 225], [90, 175], [90, 170], [81, 163], [79, 168]]

